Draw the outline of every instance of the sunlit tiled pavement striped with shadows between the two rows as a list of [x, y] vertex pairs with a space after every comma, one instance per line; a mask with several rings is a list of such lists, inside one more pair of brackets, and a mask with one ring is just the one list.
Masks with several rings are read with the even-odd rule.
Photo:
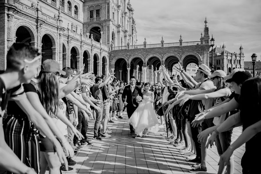
[[[93, 137], [93, 125], [94, 121], [89, 121], [89, 137]], [[189, 163], [186, 156], [181, 155], [176, 147], [168, 144], [163, 129], [148, 137], [133, 138], [128, 134], [126, 112], [123, 114], [123, 119], [108, 125], [111, 127], [112, 137], [104, 138], [102, 141], [93, 140], [93, 146], [84, 147], [73, 157], [77, 162], [72, 166], [73, 171], [66, 173], [189, 173], [192, 163]], [[241, 132], [242, 128], [235, 128], [232, 141]], [[234, 153], [235, 174], [242, 173], [240, 161], [244, 151], [244, 146], [241, 146]], [[208, 173], [217, 173], [218, 161], [219, 156], [215, 146], [209, 148]]]

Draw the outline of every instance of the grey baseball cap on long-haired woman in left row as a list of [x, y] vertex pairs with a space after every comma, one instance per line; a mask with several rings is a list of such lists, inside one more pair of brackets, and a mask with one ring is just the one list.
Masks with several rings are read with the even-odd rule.
[[60, 73], [61, 75], [66, 75], [66, 72], [60, 69], [60, 65], [57, 61], [52, 59], [46, 59], [42, 63], [42, 71], [46, 73]]

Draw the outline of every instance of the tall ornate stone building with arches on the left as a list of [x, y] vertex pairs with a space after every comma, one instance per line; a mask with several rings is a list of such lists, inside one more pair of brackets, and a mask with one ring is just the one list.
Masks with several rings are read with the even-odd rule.
[[133, 8], [125, 0], [0, 0], [0, 69], [14, 42], [28, 42], [61, 67], [100, 75], [109, 62], [109, 45], [136, 44]]

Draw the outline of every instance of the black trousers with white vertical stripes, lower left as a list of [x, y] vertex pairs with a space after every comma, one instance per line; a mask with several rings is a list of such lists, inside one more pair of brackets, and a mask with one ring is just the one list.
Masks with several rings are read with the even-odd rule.
[[[24, 115], [8, 115], [3, 121], [5, 140], [12, 151], [28, 167], [40, 173], [40, 148], [33, 125]], [[9, 174], [10, 172], [8, 172]]]

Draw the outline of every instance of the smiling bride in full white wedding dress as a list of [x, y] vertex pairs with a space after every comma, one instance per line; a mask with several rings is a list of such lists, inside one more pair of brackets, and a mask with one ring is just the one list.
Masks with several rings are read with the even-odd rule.
[[129, 124], [133, 126], [135, 134], [140, 137], [143, 135], [143, 131], [145, 137], [149, 132], [155, 133], [159, 131], [158, 117], [153, 108], [154, 93], [149, 91], [149, 88], [150, 84], [145, 83], [145, 91], [142, 92], [143, 100], [129, 118]]

